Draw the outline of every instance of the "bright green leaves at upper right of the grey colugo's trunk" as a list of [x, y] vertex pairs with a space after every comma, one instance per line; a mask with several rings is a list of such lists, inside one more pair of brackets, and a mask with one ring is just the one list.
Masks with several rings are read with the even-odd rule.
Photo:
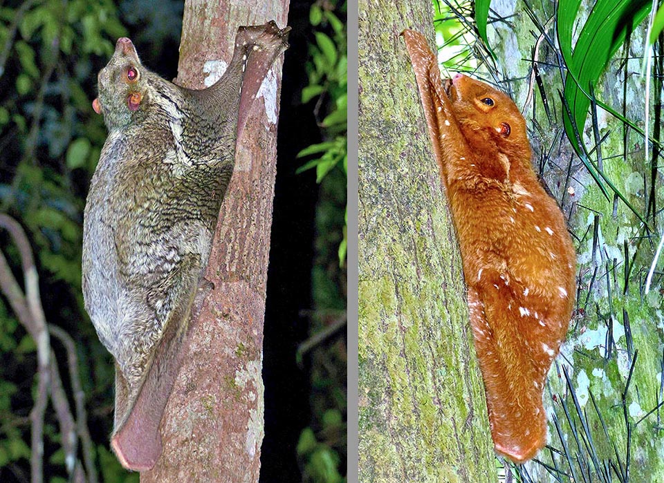
[[[297, 154], [298, 158], [317, 155], [297, 169], [297, 173], [316, 169], [316, 180], [322, 182], [327, 173], [339, 167], [348, 173], [347, 102], [348, 57], [346, 23], [338, 17], [345, 14], [345, 2], [317, 2], [309, 10], [309, 20], [314, 28], [315, 42], [309, 44], [310, 61], [306, 70], [309, 84], [302, 89], [302, 102], [316, 99], [315, 114], [324, 142], [312, 144]], [[321, 119], [322, 117], [322, 119]], [[340, 265], [346, 259], [347, 229], [342, 228], [343, 240], [339, 244]]]

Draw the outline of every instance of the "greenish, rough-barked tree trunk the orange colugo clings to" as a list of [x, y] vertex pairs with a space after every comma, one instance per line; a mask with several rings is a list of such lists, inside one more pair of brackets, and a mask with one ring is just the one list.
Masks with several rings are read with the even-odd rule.
[[[430, 0], [360, 1], [360, 481], [496, 481], [461, 258], [399, 33]], [[433, 42], [430, 42], [434, 45]]]

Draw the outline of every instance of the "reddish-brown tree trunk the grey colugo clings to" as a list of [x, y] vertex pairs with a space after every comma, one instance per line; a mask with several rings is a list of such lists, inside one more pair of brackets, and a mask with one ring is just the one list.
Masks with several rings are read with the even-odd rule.
[[[288, 0], [187, 1], [176, 82], [203, 88], [215, 65], [207, 61], [228, 64], [239, 26], [275, 20], [284, 28], [287, 17]], [[189, 346], [161, 424], [163, 454], [141, 473], [142, 483], [258, 481], [281, 66], [279, 59], [266, 77], [239, 140], [205, 274], [214, 289], [194, 307]]]

